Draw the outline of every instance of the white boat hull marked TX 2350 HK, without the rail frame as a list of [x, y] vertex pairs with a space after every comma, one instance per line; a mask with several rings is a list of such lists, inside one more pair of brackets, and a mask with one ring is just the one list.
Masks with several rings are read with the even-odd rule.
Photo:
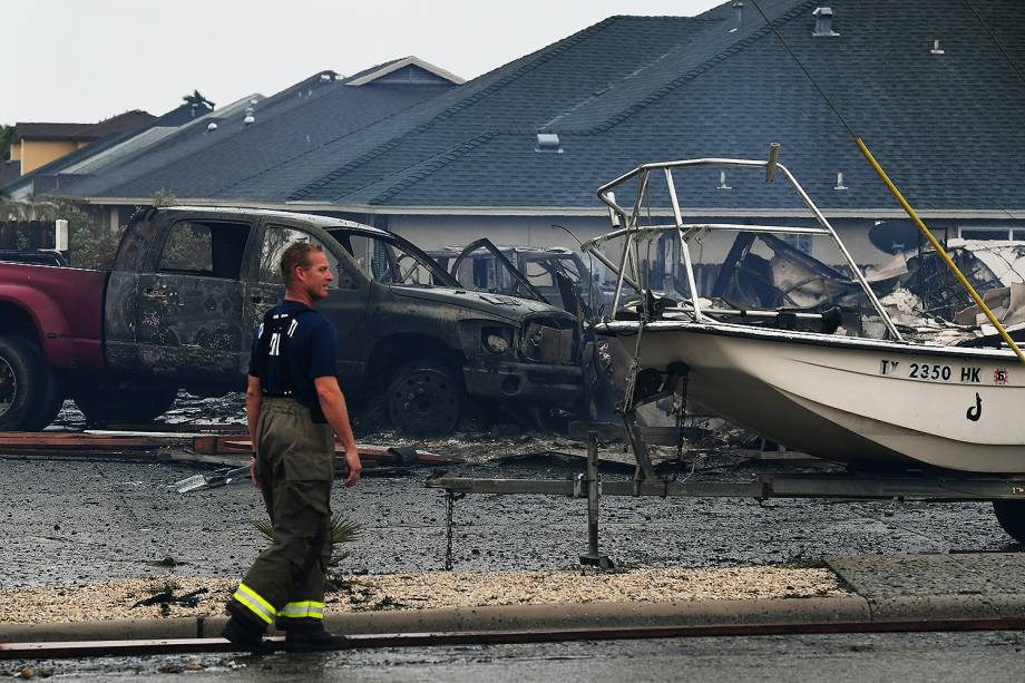
[[[633, 355], [636, 323], [598, 331], [626, 333]], [[686, 363], [687, 400], [812, 456], [1025, 472], [1025, 365], [1009, 351], [656, 321], [640, 357]]]

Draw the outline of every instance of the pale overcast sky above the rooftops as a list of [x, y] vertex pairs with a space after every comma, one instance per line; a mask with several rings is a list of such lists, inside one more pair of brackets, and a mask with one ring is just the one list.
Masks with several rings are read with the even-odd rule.
[[218, 106], [318, 71], [416, 55], [469, 80], [613, 14], [694, 16], [724, 0], [14, 0], [0, 124]]

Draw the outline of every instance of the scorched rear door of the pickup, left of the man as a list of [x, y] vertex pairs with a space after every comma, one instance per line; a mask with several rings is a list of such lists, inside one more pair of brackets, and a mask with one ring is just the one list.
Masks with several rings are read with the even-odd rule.
[[252, 225], [185, 217], [164, 231], [139, 275], [136, 340], [144, 372], [199, 382], [238, 379], [240, 281]]

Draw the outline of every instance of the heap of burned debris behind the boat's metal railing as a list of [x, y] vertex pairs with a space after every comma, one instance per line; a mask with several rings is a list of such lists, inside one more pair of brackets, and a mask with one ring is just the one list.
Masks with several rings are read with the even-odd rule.
[[[948, 241], [946, 247], [1012, 338], [1025, 340], [1025, 242], [958, 238]], [[908, 341], [999, 345], [995, 328], [928, 245], [898, 252], [867, 267], [865, 277]], [[711, 299], [703, 300], [704, 305], [714, 302], [716, 310], [734, 310], [738, 321], [755, 310], [775, 310], [788, 315], [774, 316], [765, 324], [868, 336], [884, 332], [848, 269], [828, 265], [770, 234], [738, 235], [710, 280]], [[670, 299], [685, 296], [683, 279], [671, 275], [665, 281], [664, 293]], [[801, 313], [822, 318], [802, 322]], [[829, 318], [836, 321], [831, 329], [820, 329]]]

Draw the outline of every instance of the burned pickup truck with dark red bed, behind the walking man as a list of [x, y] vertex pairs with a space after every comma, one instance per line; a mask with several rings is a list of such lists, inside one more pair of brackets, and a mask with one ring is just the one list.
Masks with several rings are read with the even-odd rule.
[[0, 430], [48, 425], [65, 398], [91, 421], [145, 421], [178, 389], [243, 389], [252, 330], [281, 299], [279, 261], [323, 246], [319, 304], [339, 330], [350, 401], [406, 433], [446, 433], [470, 407], [574, 410], [574, 316], [467, 291], [418, 247], [358, 223], [238, 208], [146, 209], [111, 271], [0, 264]]

